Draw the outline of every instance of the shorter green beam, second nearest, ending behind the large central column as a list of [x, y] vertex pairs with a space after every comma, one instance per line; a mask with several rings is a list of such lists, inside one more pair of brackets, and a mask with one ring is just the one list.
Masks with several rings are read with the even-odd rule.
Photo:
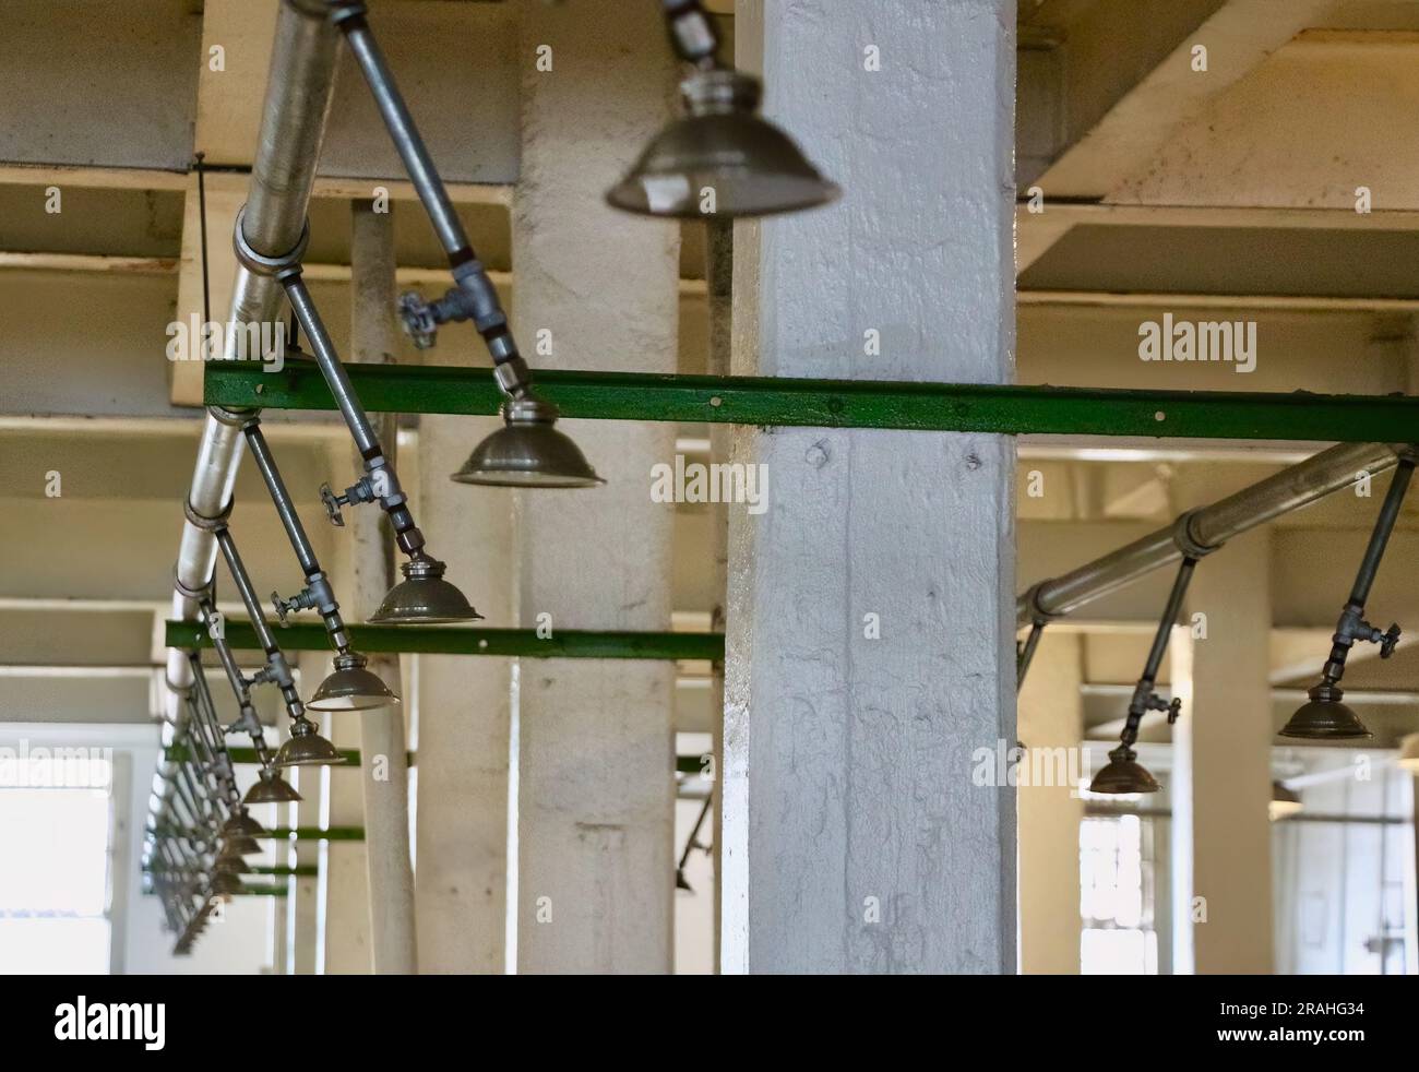
[[[352, 625], [356, 650], [409, 655], [498, 655], [532, 659], [724, 659], [721, 633], [612, 633], [558, 629], [542, 639], [535, 629], [473, 629], [464, 626]], [[227, 643], [260, 649], [250, 622], [228, 620]], [[324, 652], [331, 646], [324, 625], [277, 626], [277, 643], [288, 652]], [[210, 647], [200, 622], [167, 622], [169, 647]]]

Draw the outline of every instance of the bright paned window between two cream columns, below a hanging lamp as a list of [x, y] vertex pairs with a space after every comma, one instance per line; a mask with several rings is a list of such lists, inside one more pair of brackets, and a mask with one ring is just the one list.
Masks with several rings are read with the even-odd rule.
[[1080, 971], [1156, 975], [1152, 831], [1137, 815], [1086, 818], [1078, 828]]

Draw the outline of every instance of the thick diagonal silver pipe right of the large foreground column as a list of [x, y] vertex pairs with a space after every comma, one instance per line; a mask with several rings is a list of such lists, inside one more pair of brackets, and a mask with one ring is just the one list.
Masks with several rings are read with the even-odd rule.
[[1382, 473], [1409, 450], [1408, 446], [1389, 443], [1351, 443], [1323, 450], [1212, 505], [1188, 511], [1166, 528], [1061, 576], [1042, 581], [1016, 601], [1016, 625], [1023, 628], [1042, 618], [1064, 618], [1155, 569], [1178, 562], [1185, 552], [1215, 551], [1250, 528], [1352, 484], [1362, 470]]

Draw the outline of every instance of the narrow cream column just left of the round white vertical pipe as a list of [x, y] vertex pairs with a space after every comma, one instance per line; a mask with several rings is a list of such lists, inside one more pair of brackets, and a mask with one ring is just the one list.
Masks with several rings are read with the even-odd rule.
[[[301, 652], [301, 694], [309, 697], [331, 672], [329, 652]], [[359, 717], [350, 711], [307, 711], [336, 748], [359, 748]], [[362, 757], [363, 758], [363, 757]], [[325, 799], [321, 826], [362, 826], [365, 771], [355, 767], [318, 768]], [[302, 788], [301, 792], [305, 792]], [[332, 841], [325, 862], [325, 960], [326, 975], [368, 975], [373, 968], [369, 937], [369, 868], [365, 842]]]

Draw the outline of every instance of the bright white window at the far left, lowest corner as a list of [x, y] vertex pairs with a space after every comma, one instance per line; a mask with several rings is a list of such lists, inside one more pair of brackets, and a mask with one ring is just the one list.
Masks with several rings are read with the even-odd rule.
[[111, 787], [108, 758], [0, 764], [0, 974], [108, 974]]

